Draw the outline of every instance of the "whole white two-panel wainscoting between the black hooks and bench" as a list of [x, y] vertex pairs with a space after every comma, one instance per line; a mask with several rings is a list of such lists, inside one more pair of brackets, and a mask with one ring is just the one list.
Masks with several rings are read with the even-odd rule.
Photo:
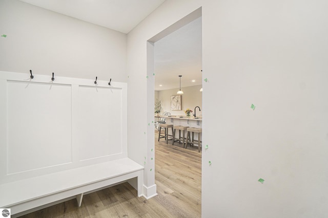
[[127, 157], [127, 84], [0, 71], [0, 183]]

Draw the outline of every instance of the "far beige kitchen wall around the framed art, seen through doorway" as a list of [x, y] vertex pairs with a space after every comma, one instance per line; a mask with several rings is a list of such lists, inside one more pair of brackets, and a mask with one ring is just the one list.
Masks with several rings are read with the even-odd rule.
[[[162, 111], [163, 112], [170, 112], [171, 115], [183, 115], [186, 116], [185, 112], [187, 108], [195, 112], [194, 109], [196, 106], [200, 107], [202, 110], [202, 92], [199, 92], [201, 85], [193, 85], [188, 87], [182, 87], [181, 90], [183, 94], [181, 95], [181, 111], [172, 111], [171, 110], [171, 96], [177, 95], [176, 92], [179, 89], [171, 89], [171, 90], [161, 90], [158, 92], [158, 99], [162, 103]], [[160, 113], [160, 114], [161, 114]], [[196, 115], [200, 115], [201, 111], [199, 112], [198, 108], [196, 109]]]

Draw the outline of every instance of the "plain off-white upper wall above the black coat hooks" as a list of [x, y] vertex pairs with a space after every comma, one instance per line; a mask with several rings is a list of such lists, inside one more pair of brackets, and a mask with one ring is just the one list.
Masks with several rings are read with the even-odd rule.
[[0, 0], [0, 70], [127, 82], [127, 36], [17, 0]]

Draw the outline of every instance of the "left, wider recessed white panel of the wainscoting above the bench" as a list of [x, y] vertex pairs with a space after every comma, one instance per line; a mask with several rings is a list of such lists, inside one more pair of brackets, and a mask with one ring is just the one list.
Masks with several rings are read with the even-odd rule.
[[70, 85], [9, 80], [7, 108], [9, 174], [72, 161]]

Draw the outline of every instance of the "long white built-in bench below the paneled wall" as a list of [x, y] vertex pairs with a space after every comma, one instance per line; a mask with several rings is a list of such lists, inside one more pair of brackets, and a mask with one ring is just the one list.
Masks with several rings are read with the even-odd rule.
[[127, 180], [140, 197], [144, 167], [129, 158], [55, 172], [0, 185], [0, 208], [11, 208], [12, 215], [23, 215], [24, 211], [32, 212], [72, 197], [81, 206], [84, 193]]

